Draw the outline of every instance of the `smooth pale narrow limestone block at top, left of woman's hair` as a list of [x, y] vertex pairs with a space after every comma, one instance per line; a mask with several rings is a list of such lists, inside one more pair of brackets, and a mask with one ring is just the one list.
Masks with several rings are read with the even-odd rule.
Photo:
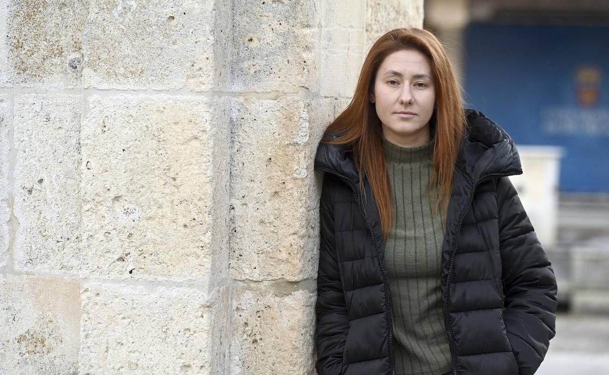
[[321, 7], [320, 95], [351, 97], [365, 57], [366, 1], [322, 1]]

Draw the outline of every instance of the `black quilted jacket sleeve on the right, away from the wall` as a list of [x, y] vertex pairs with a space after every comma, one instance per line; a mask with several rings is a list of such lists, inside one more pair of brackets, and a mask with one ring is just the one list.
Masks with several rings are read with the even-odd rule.
[[510, 179], [498, 182], [504, 322], [519, 375], [533, 375], [555, 335], [554, 270]]

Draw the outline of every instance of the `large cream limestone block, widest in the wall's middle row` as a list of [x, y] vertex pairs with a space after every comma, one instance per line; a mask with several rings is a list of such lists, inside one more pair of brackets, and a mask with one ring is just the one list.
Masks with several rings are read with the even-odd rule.
[[199, 96], [88, 98], [81, 131], [83, 276], [222, 277], [228, 103]]

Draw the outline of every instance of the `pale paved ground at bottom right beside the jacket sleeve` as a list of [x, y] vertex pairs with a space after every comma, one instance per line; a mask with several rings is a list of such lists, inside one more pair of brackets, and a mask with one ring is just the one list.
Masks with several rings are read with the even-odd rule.
[[556, 337], [535, 375], [609, 375], [609, 316], [558, 314]]

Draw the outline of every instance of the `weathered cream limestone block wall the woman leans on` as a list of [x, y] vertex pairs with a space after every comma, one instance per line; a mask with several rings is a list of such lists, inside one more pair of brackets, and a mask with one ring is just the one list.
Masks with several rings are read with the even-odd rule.
[[0, 374], [314, 374], [325, 126], [422, 0], [0, 0]]

